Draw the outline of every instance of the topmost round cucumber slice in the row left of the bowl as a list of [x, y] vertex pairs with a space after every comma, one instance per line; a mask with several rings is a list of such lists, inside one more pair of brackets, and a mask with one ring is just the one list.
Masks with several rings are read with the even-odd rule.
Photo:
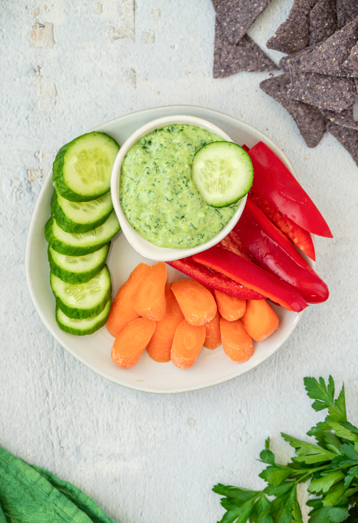
[[53, 185], [66, 200], [89, 201], [110, 189], [119, 145], [108, 134], [90, 132], [66, 143], [53, 163]]

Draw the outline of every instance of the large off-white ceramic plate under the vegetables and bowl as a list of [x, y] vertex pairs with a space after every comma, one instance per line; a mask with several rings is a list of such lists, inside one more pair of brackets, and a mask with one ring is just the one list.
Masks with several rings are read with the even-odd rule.
[[[186, 114], [204, 118], [225, 131], [236, 143], [252, 147], [260, 140], [283, 161], [295, 175], [291, 163], [269, 138], [257, 129], [236, 118], [224, 115], [212, 109], [195, 106], [167, 106], [133, 112], [96, 127], [95, 131], [110, 134], [120, 145], [138, 128], [148, 121], [163, 116]], [[296, 175], [295, 175], [296, 176]], [[252, 358], [244, 363], [231, 361], [222, 347], [215, 350], [203, 348], [190, 369], [178, 369], [168, 363], [157, 363], [149, 358], [146, 351], [140, 361], [131, 369], [120, 369], [111, 359], [111, 347], [114, 338], [102, 327], [90, 336], [73, 336], [61, 331], [55, 320], [55, 299], [50, 287], [50, 268], [47, 259], [48, 244], [44, 237], [44, 226], [50, 218], [50, 200], [53, 192], [51, 174], [44, 180], [39, 198], [33, 211], [26, 244], [26, 279], [32, 301], [45, 326], [53, 337], [89, 369], [114, 383], [144, 392], [172, 394], [203, 389], [223, 383], [257, 367], [269, 358], [286, 341], [301, 319], [302, 312], [290, 312], [274, 306], [280, 319], [279, 328], [263, 342], [254, 342]], [[313, 266], [313, 262], [306, 258]], [[107, 258], [111, 272], [113, 296], [122, 283], [128, 279], [134, 267], [144, 261], [152, 264], [137, 254], [124, 235], [120, 232], [112, 240]], [[168, 279], [174, 281], [183, 278], [181, 272], [168, 267]]]

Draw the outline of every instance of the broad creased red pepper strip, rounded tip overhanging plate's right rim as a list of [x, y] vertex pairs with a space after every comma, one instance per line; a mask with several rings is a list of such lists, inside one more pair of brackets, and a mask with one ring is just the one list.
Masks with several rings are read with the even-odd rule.
[[328, 299], [326, 283], [250, 198], [234, 231], [265, 270], [291, 285], [307, 303]]

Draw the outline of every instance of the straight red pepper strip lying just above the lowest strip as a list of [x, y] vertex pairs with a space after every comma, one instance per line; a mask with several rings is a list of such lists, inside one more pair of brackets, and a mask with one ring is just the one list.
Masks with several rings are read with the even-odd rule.
[[287, 311], [303, 311], [308, 305], [292, 287], [272, 276], [251, 261], [220, 247], [211, 247], [207, 251], [193, 255], [193, 260], [218, 270], [228, 278], [260, 292], [269, 300], [278, 303]]

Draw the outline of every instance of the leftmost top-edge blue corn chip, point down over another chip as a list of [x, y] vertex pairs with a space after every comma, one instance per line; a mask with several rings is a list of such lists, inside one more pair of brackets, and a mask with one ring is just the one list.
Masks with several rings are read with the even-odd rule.
[[229, 43], [235, 45], [244, 37], [271, 0], [211, 0], [216, 18]]

